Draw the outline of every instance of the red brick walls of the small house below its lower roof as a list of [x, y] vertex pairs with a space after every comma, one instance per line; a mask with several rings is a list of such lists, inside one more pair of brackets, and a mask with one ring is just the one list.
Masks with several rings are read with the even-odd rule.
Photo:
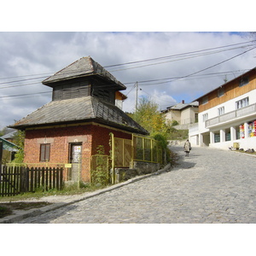
[[50, 143], [49, 163], [68, 163], [69, 143], [82, 141], [81, 178], [90, 182], [90, 156], [96, 154], [96, 147], [104, 146], [105, 154], [109, 154], [109, 133], [114, 137], [131, 139], [131, 134], [114, 131], [100, 125], [78, 125], [49, 129], [26, 130], [25, 162], [40, 163], [40, 144]]

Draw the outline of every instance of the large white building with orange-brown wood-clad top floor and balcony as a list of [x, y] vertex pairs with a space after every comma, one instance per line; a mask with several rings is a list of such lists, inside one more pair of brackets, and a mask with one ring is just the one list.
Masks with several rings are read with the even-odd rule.
[[192, 146], [256, 149], [256, 67], [208, 92], [199, 102]]

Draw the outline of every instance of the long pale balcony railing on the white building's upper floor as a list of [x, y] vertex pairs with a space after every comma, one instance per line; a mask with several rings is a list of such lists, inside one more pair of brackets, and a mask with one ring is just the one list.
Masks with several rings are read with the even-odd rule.
[[206, 121], [206, 128], [209, 128], [211, 126], [218, 125], [224, 122], [228, 122], [234, 119], [240, 119], [250, 114], [256, 114], [256, 104], [249, 105], [244, 108], [239, 108], [229, 113], [224, 113], [213, 119], [208, 119]]

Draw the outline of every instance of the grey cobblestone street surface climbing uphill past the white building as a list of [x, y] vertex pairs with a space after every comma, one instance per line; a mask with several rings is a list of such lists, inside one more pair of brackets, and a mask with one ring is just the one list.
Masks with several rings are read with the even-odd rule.
[[183, 148], [172, 172], [69, 204], [19, 223], [254, 224], [256, 158], [214, 148]]

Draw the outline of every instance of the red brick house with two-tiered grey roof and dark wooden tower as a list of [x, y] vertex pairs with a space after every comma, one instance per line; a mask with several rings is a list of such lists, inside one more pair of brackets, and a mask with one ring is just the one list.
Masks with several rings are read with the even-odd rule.
[[[125, 90], [112, 74], [90, 56], [73, 62], [42, 82], [53, 89], [52, 101], [20, 119], [12, 128], [26, 131], [25, 159], [29, 164], [73, 163], [70, 172], [80, 172], [83, 182], [90, 182], [90, 157], [99, 145], [108, 154], [109, 133], [131, 139], [132, 133], [148, 135], [115, 106], [125, 99]], [[79, 167], [75, 164], [79, 163]], [[67, 175], [66, 180], [73, 180]]]

